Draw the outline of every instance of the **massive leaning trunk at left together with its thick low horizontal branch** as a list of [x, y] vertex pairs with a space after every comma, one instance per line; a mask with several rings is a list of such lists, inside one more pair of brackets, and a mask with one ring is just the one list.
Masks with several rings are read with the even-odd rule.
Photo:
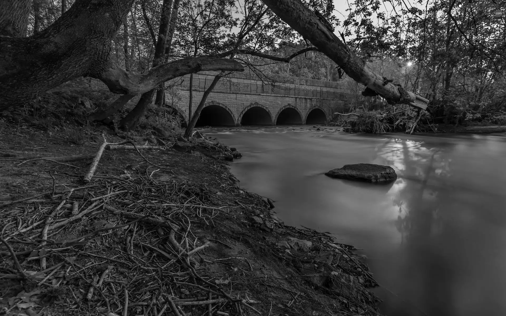
[[[113, 93], [137, 95], [192, 72], [243, 71], [240, 63], [229, 59], [191, 57], [153, 67], [143, 74], [124, 71], [111, 61], [111, 43], [133, 2], [76, 0], [55, 23], [36, 35], [0, 36], [0, 110], [23, 106], [79, 76], [100, 79]], [[0, 34], [8, 33], [12, 25], [20, 25], [12, 18], [20, 16], [23, 8], [14, 6], [20, 3], [24, 2], [0, 1]]]

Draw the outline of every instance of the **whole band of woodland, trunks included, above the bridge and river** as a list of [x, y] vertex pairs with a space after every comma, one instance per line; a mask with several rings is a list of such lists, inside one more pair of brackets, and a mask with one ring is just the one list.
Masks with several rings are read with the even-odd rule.
[[164, 106], [171, 79], [215, 70], [216, 82], [234, 71], [271, 83], [351, 78], [367, 86], [356, 106], [406, 103], [432, 122], [506, 118], [505, 5], [492, 0], [356, 0], [346, 12], [298, 0], [8, 0], [0, 9], [3, 109], [91, 76], [120, 95], [95, 120], [142, 94], [120, 121], [135, 128], [152, 103]]

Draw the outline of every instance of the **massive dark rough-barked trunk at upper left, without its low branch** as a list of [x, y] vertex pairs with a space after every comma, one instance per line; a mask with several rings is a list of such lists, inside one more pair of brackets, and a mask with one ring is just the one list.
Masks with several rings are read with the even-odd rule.
[[[112, 39], [133, 2], [76, 0], [36, 35], [0, 36], [0, 109], [22, 106], [70, 79], [110, 67]], [[0, 15], [6, 11], [12, 7], [0, 8]]]

